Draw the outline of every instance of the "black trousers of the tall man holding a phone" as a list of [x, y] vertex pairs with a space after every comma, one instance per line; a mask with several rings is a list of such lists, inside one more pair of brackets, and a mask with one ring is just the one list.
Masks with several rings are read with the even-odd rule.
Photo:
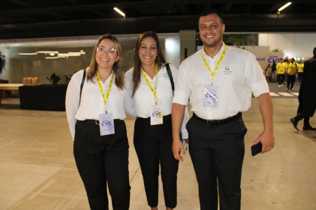
[[192, 117], [186, 128], [201, 210], [217, 210], [217, 183], [220, 209], [240, 209], [241, 169], [247, 132], [242, 117], [213, 126]]

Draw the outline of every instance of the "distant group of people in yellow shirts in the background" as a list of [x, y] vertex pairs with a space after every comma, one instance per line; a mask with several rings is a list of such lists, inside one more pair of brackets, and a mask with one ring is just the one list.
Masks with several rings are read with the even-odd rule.
[[280, 59], [280, 62], [276, 63], [272, 61], [272, 65], [268, 64], [265, 70], [265, 76], [268, 82], [279, 82], [278, 87], [283, 87], [283, 84], [287, 84], [286, 91], [294, 90], [294, 83], [301, 84], [302, 75], [304, 71], [304, 61], [296, 62], [294, 58], [284, 62], [284, 59]]

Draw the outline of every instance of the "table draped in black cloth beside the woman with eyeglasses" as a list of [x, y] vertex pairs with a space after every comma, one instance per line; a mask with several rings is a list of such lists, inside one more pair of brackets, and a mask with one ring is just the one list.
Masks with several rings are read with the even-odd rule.
[[68, 84], [19, 87], [21, 109], [65, 111]]

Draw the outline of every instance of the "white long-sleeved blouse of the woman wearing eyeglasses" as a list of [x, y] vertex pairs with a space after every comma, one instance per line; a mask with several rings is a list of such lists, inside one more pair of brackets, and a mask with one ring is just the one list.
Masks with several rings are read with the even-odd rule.
[[[70, 128], [72, 138], [75, 136], [75, 125], [77, 120], [86, 119], [99, 119], [100, 114], [105, 113], [105, 104], [100, 92], [98, 81], [96, 77], [92, 79], [93, 82], [87, 81], [85, 78], [81, 102], [79, 106], [80, 86], [83, 77], [83, 70], [76, 72], [72, 77], [67, 87], [66, 92], [66, 115]], [[112, 74], [102, 84], [103, 91], [106, 93], [107, 88], [111, 80]], [[114, 119], [124, 119], [126, 114], [123, 108], [124, 97], [126, 97], [126, 89], [120, 90], [115, 85], [115, 75], [113, 78], [113, 85], [111, 92], [106, 103], [106, 109], [108, 112], [113, 113]]]

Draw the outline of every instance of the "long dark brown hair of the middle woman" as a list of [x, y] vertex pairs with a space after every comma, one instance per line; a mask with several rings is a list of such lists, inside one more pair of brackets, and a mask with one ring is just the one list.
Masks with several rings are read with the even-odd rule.
[[132, 75], [132, 82], [133, 82], [133, 94], [132, 97], [134, 96], [135, 92], [137, 91], [138, 87], [139, 87], [139, 83], [140, 83], [140, 67], [141, 67], [141, 61], [139, 58], [139, 48], [140, 48], [140, 43], [142, 42], [142, 40], [146, 37], [152, 37], [155, 39], [156, 43], [157, 43], [157, 57], [155, 59], [155, 64], [158, 64], [161, 68], [163, 67], [163, 65], [166, 63], [165, 58], [163, 57], [162, 51], [161, 51], [161, 46], [160, 46], [160, 42], [159, 42], [159, 38], [157, 36], [157, 34], [154, 31], [145, 31], [143, 32], [141, 35], [139, 35], [136, 45], [135, 45], [135, 64], [134, 64], [134, 71], [133, 71], [133, 75]]

